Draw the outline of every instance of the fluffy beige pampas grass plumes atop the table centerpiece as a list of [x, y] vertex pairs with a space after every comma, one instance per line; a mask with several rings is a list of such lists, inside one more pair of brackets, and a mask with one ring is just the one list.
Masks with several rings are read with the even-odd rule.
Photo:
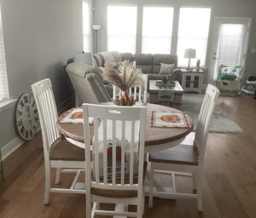
[[143, 72], [136, 68], [136, 62], [130, 64], [125, 60], [118, 69], [114, 68], [110, 62], [105, 63], [102, 77], [122, 91], [127, 91], [133, 87], [141, 86], [144, 89]]

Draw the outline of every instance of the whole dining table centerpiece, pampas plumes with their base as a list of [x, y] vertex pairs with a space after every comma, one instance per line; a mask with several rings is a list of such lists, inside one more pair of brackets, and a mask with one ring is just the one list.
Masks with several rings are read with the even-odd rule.
[[142, 87], [144, 89], [143, 72], [136, 67], [136, 62], [129, 63], [127, 60], [115, 68], [112, 63], [106, 62], [102, 77], [122, 90], [122, 95], [116, 96], [114, 103], [119, 106], [132, 106], [135, 104], [134, 97], [129, 96], [129, 89]]

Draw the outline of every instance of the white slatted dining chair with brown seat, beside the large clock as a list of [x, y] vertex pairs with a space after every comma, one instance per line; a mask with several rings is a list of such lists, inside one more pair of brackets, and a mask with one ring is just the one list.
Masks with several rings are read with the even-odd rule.
[[[61, 140], [61, 135], [56, 129], [58, 114], [49, 78], [32, 84], [32, 92], [38, 108], [44, 146], [44, 204], [49, 204], [49, 192], [84, 194], [85, 187], [77, 182], [79, 174], [85, 169], [84, 149], [67, 140]], [[56, 169], [55, 184], [59, 184], [61, 173], [76, 173], [72, 185], [68, 188], [52, 187], [51, 168]]]

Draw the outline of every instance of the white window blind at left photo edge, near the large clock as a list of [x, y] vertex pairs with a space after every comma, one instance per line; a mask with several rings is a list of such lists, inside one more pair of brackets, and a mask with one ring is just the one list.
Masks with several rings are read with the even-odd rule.
[[1, 7], [0, 7], [0, 102], [3, 100], [9, 100], [9, 89], [8, 89], [8, 81], [7, 81], [4, 44], [3, 44], [2, 14], [1, 14]]

